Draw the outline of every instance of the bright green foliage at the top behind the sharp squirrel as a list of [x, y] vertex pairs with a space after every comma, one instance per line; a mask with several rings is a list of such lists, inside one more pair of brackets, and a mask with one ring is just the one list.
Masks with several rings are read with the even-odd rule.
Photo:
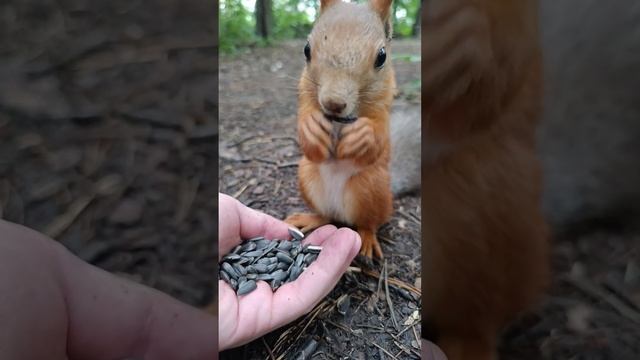
[[[255, 35], [255, 1], [220, 0], [220, 50], [233, 52], [274, 40], [305, 38], [315, 19], [319, 0], [272, 0], [273, 24], [268, 41]], [[362, 1], [362, 0], [361, 0]], [[412, 35], [420, 0], [394, 0], [394, 37]]]

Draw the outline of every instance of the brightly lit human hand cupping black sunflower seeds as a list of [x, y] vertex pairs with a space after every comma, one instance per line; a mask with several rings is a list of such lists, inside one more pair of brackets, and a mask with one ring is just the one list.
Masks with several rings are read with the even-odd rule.
[[[219, 257], [241, 239], [264, 236], [289, 238], [288, 225], [250, 209], [224, 194], [219, 195]], [[238, 297], [226, 282], [218, 282], [220, 350], [245, 344], [311, 311], [336, 285], [360, 250], [360, 237], [348, 228], [324, 226], [307, 236], [304, 244], [321, 245], [322, 252], [293, 282], [276, 292], [264, 281], [251, 293]]]

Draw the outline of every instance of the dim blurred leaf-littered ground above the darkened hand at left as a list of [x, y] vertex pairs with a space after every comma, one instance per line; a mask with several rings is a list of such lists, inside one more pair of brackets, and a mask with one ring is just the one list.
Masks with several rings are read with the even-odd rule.
[[201, 0], [0, 3], [0, 216], [207, 304], [217, 28]]

